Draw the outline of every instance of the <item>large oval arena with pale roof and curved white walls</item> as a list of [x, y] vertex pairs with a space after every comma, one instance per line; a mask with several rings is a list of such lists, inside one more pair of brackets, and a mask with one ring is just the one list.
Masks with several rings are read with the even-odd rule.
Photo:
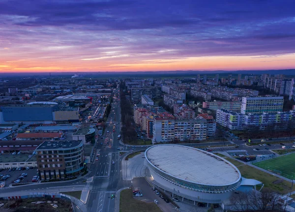
[[221, 203], [241, 184], [229, 161], [193, 147], [165, 144], [145, 152], [152, 183], [180, 200]]

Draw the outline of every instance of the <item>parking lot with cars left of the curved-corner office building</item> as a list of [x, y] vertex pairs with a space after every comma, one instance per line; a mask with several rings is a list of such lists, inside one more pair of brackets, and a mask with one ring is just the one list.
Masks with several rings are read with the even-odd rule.
[[[20, 170], [20, 171], [8, 171], [8, 169], [4, 169], [3, 171], [0, 172], [0, 175], [10, 175], [11, 177], [8, 178], [5, 181], [5, 187], [8, 186], [9, 184], [13, 184], [13, 182], [20, 177], [22, 173], [28, 174], [25, 179], [21, 181], [21, 183], [30, 183], [32, 181], [32, 178], [37, 174], [37, 168], [29, 169], [29, 170]], [[0, 181], [3, 182], [3, 181]]]

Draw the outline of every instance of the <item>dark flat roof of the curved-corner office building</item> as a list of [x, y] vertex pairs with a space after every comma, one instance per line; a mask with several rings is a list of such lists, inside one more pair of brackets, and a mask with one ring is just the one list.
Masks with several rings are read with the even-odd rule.
[[58, 149], [73, 149], [79, 146], [83, 146], [82, 140], [71, 140], [71, 141], [44, 141], [40, 144], [36, 151], [38, 150], [58, 150]]

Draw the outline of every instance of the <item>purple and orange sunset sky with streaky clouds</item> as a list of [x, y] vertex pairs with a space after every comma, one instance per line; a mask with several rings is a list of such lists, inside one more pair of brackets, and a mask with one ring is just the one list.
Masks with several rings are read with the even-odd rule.
[[0, 73], [291, 68], [294, 0], [0, 0]]

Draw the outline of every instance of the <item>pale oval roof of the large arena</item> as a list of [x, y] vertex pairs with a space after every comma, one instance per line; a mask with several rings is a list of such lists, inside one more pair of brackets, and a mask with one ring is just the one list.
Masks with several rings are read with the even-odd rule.
[[231, 185], [241, 178], [230, 162], [206, 151], [181, 145], [156, 145], [146, 157], [156, 168], [179, 179], [205, 185]]

